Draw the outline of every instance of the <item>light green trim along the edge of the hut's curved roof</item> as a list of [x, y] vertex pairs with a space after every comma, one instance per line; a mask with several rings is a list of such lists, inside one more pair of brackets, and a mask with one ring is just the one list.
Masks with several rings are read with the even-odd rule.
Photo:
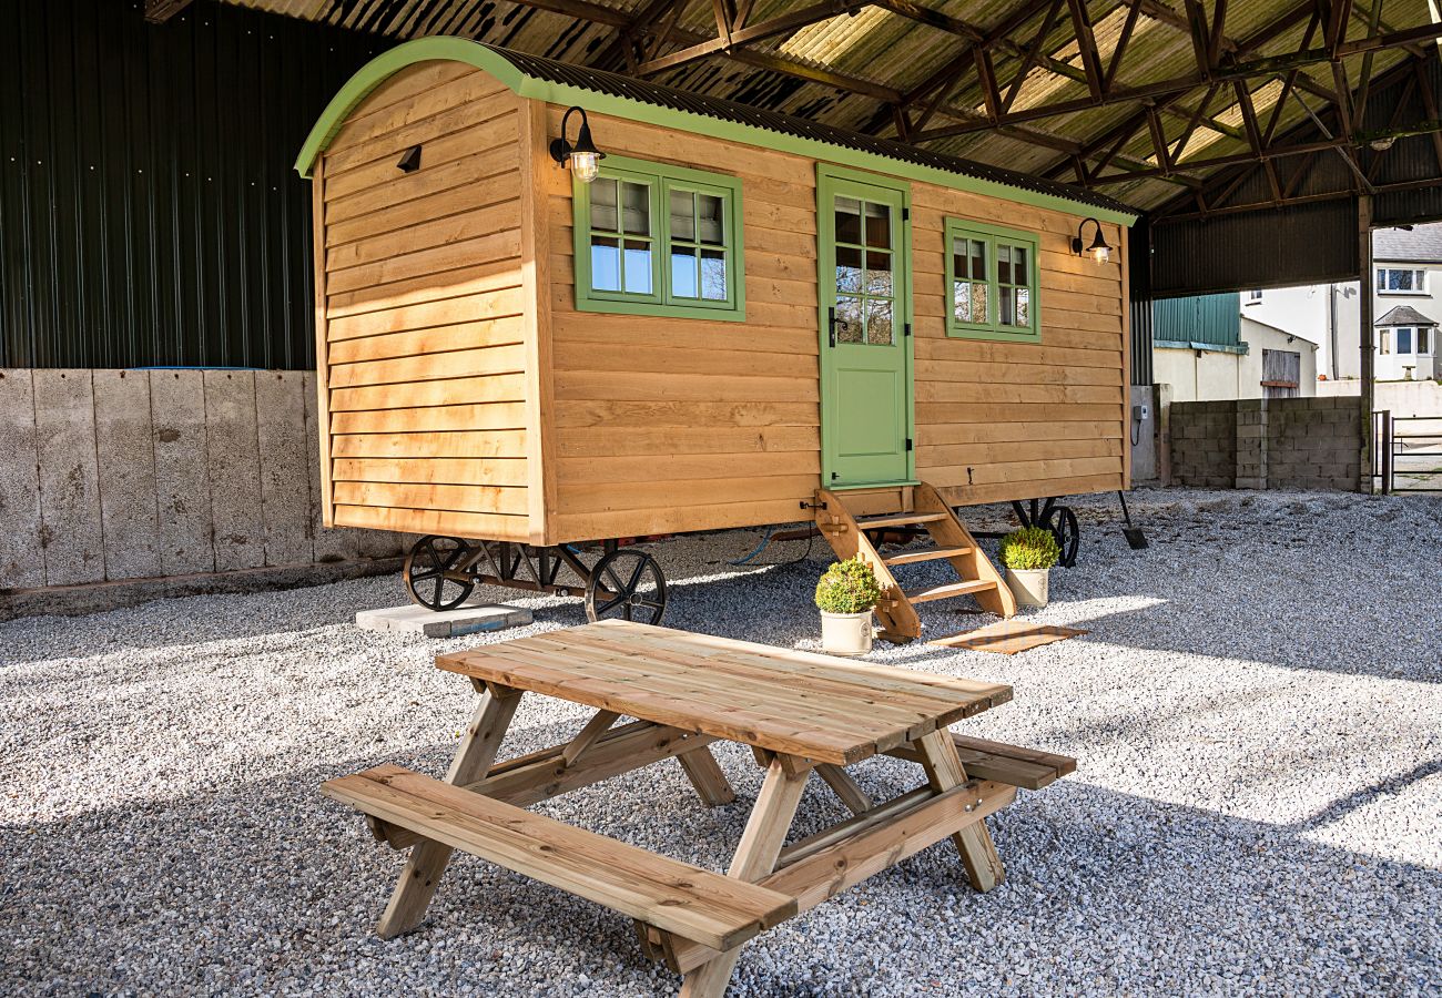
[[[845, 146], [835, 146], [832, 143], [820, 141], [819, 138], [789, 136], [771, 131], [770, 128], [743, 124], [740, 121], [724, 121], [721, 118], [658, 107], [626, 97], [598, 94], [581, 87], [572, 87], [570, 84], [555, 84], [547, 79], [538, 79], [521, 72], [510, 61], [495, 49], [470, 39], [448, 36], [420, 37], [405, 42], [394, 49], [389, 49], [388, 52], [382, 52], [356, 71], [356, 74], [346, 81], [346, 85], [342, 87], [340, 91], [330, 100], [330, 104], [326, 105], [326, 110], [310, 130], [306, 144], [300, 149], [300, 156], [296, 157], [296, 172], [303, 177], [310, 177], [316, 160], [330, 146], [330, 141], [336, 137], [336, 133], [340, 131], [340, 125], [345, 124], [345, 120], [350, 115], [355, 107], [363, 101], [371, 91], [385, 82], [386, 78], [417, 62], [437, 59], [464, 62], [476, 66], [477, 69], [483, 69], [485, 72], [496, 76], [519, 97], [536, 101], [548, 101], [551, 104], [581, 104], [588, 111], [610, 114], [617, 118], [678, 128], [681, 131], [711, 136], [714, 138], [740, 141], [748, 146], [760, 146], [763, 149], [793, 153], [841, 166], [852, 166], [862, 170], [871, 170], [874, 173], [884, 173], [893, 177], [919, 180], [921, 183], [934, 183], [955, 190], [991, 195], [994, 198], [1002, 198], [1019, 205], [1050, 208], [1067, 212], [1069, 215], [1090, 216], [1103, 222], [1113, 222], [1116, 225], [1131, 226], [1138, 218], [1141, 218], [1139, 212], [1120, 212], [1102, 208], [1100, 205], [1089, 205], [1086, 202], [1071, 200], [1058, 195], [1014, 187], [1011, 185], [988, 180], [985, 177], [970, 177], [933, 166], [907, 163], [904, 160], [891, 159], [890, 156], [881, 156], [878, 153], [846, 149]], [[600, 144], [604, 147], [604, 138]]]

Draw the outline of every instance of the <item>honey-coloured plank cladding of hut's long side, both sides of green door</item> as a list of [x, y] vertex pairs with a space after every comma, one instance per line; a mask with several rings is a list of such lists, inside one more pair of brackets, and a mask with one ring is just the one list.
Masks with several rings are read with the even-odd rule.
[[[562, 112], [548, 108], [548, 134]], [[558, 499], [549, 532], [797, 519], [797, 500], [820, 485], [816, 162], [591, 118], [610, 153], [741, 177], [747, 317], [575, 312], [571, 177], [542, 170], [535, 225], [549, 229]], [[544, 149], [531, 153], [544, 160]], [[1106, 265], [1073, 255], [1080, 219], [1064, 212], [926, 183], [911, 196], [917, 477], [957, 505], [1123, 487], [1122, 254]], [[946, 336], [946, 216], [1040, 237], [1041, 343]], [[1116, 225], [1103, 229], [1123, 244]]]

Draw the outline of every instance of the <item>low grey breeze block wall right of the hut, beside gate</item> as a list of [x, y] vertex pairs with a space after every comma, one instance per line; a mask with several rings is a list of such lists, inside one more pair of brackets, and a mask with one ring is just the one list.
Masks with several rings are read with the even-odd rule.
[[1172, 479], [1211, 489], [1353, 492], [1361, 431], [1357, 398], [1175, 402]]

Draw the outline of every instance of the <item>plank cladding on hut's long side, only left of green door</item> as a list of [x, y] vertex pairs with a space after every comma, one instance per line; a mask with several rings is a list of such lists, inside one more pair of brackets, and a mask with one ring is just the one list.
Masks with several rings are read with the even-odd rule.
[[820, 485], [815, 163], [611, 118], [593, 130], [607, 151], [741, 179], [746, 322], [577, 313], [570, 177], [551, 175], [554, 534], [796, 519]]

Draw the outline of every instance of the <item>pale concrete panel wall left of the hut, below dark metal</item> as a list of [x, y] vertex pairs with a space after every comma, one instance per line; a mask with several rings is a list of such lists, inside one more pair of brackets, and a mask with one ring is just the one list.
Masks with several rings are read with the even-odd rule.
[[322, 526], [317, 438], [311, 372], [0, 369], [0, 593], [399, 555]]

